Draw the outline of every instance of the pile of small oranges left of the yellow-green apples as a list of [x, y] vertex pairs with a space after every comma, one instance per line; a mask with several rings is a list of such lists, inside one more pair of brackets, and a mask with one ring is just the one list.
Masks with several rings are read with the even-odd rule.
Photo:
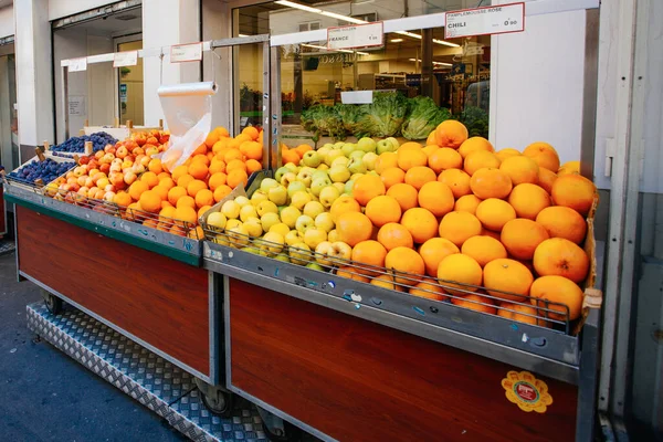
[[262, 131], [246, 127], [234, 138], [223, 127], [207, 136], [183, 165], [167, 170], [152, 159], [114, 202], [129, 210], [126, 218], [181, 236], [202, 239], [198, 219], [235, 187], [245, 186], [262, 169]]

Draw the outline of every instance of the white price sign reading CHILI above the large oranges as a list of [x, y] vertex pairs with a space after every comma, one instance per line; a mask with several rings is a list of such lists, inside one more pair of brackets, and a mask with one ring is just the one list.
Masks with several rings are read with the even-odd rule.
[[446, 12], [444, 38], [504, 34], [525, 31], [525, 3]]

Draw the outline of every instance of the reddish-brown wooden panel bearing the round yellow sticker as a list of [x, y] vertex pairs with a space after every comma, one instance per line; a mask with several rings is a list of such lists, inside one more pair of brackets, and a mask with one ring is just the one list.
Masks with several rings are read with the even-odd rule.
[[232, 385], [340, 441], [575, 439], [573, 386], [524, 412], [492, 359], [236, 280], [230, 328]]

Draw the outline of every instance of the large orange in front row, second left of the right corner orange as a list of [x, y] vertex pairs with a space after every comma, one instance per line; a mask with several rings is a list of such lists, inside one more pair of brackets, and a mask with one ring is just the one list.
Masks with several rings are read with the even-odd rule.
[[462, 253], [446, 256], [438, 266], [438, 280], [442, 287], [452, 295], [462, 296], [467, 294], [466, 292], [476, 292], [482, 276], [481, 265], [473, 257]]

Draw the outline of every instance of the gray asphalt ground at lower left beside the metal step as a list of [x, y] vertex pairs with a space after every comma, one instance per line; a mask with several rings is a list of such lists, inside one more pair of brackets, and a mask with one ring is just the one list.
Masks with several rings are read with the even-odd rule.
[[0, 440], [183, 441], [157, 414], [35, 336], [25, 305], [38, 287], [17, 282], [14, 253], [0, 256]]

